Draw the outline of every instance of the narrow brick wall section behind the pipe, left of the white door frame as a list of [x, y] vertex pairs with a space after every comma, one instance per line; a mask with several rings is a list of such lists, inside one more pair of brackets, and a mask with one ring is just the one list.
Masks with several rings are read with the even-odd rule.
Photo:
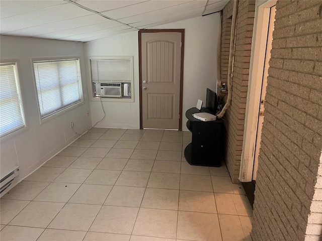
[[[222, 14], [222, 55], [221, 77], [226, 82], [228, 68], [230, 16], [232, 14], [232, 0], [225, 6]], [[251, 44], [255, 16], [255, 1], [240, 0], [238, 2], [235, 52], [232, 72], [231, 105], [224, 115], [226, 128], [225, 161], [234, 183], [237, 182], [240, 169], [241, 150], [246, 111], [246, 97], [251, 59]], [[230, 22], [229, 22], [230, 21]], [[229, 27], [228, 27], [229, 26]], [[228, 33], [229, 29], [229, 33]], [[228, 45], [225, 41], [228, 41]], [[225, 81], [224, 81], [225, 80]]]

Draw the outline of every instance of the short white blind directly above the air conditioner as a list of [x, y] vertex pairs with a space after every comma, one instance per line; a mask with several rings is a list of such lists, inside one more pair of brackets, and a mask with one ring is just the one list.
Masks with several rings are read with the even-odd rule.
[[91, 59], [93, 82], [131, 82], [132, 59]]

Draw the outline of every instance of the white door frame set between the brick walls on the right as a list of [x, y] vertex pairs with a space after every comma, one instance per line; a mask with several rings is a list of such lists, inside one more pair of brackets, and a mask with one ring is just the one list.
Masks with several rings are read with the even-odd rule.
[[[259, 2], [265, 1], [262, 0]], [[251, 182], [253, 180], [259, 107], [261, 101], [270, 11], [271, 8], [276, 5], [276, 2], [277, 0], [268, 0], [255, 10], [245, 130], [239, 170], [240, 182]]]

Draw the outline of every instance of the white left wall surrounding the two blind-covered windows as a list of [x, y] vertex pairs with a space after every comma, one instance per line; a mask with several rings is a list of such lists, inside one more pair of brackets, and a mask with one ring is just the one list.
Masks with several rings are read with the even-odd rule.
[[[84, 48], [83, 43], [36, 38], [0, 36], [0, 41], [1, 59], [18, 60], [26, 119], [26, 128], [0, 139], [0, 170], [3, 177], [13, 166], [19, 165], [19, 181], [75, 140], [76, 135], [70, 129], [70, 122], [74, 122], [77, 132], [84, 132], [91, 127], [91, 119], [87, 115], [89, 100]], [[41, 125], [31, 61], [31, 58], [38, 57], [79, 57], [84, 95], [83, 105]]]

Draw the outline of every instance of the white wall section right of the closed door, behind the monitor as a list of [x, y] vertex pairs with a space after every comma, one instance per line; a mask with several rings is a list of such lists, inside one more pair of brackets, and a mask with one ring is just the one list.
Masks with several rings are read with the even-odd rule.
[[185, 29], [185, 57], [183, 71], [183, 123], [185, 112], [196, 107], [198, 99], [206, 104], [206, 88], [217, 90], [216, 59], [219, 32], [219, 14], [211, 14], [176, 23], [153, 27], [153, 29]]

